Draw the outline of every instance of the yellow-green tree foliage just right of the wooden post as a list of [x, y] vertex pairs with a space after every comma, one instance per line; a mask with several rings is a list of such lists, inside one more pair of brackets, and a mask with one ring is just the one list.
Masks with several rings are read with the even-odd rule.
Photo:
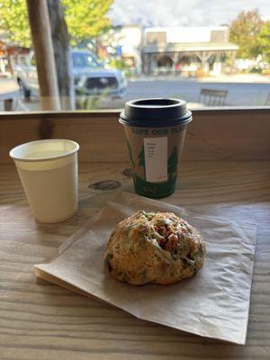
[[62, 0], [72, 45], [95, 38], [110, 27], [107, 13], [113, 0]]

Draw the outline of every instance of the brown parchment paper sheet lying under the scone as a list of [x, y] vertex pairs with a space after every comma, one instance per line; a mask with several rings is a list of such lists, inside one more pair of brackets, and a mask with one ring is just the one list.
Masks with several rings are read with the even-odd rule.
[[[197, 275], [173, 284], [132, 286], [103, 272], [103, 254], [115, 225], [137, 210], [173, 211], [206, 240], [205, 264]], [[35, 274], [109, 302], [143, 320], [203, 337], [245, 344], [256, 226], [187, 211], [131, 193], [118, 193], [94, 219], [60, 247]]]

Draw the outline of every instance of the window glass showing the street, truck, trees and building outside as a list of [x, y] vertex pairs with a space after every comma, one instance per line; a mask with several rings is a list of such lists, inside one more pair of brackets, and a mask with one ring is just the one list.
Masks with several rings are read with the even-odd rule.
[[[270, 105], [269, 1], [61, 0], [60, 6], [58, 29], [65, 22], [67, 33], [51, 26], [58, 87], [76, 109], [119, 109], [147, 97], [181, 98], [191, 109]], [[41, 109], [24, 0], [0, 0], [0, 81], [9, 81], [8, 89], [12, 81], [14, 89], [20, 85], [14, 111]]]

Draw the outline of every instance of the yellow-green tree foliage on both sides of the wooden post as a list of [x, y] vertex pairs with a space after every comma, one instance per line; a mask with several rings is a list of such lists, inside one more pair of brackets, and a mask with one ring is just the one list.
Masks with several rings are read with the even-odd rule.
[[[94, 38], [110, 27], [107, 13], [112, 1], [61, 1], [72, 45]], [[6, 33], [8, 40], [25, 47], [31, 46], [26, 0], [0, 0], [0, 30]]]

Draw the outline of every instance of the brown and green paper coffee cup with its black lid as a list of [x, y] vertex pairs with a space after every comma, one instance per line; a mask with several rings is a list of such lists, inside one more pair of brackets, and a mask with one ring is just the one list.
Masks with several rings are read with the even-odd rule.
[[179, 159], [192, 113], [184, 100], [139, 99], [125, 104], [124, 125], [135, 192], [161, 198], [175, 192]]

